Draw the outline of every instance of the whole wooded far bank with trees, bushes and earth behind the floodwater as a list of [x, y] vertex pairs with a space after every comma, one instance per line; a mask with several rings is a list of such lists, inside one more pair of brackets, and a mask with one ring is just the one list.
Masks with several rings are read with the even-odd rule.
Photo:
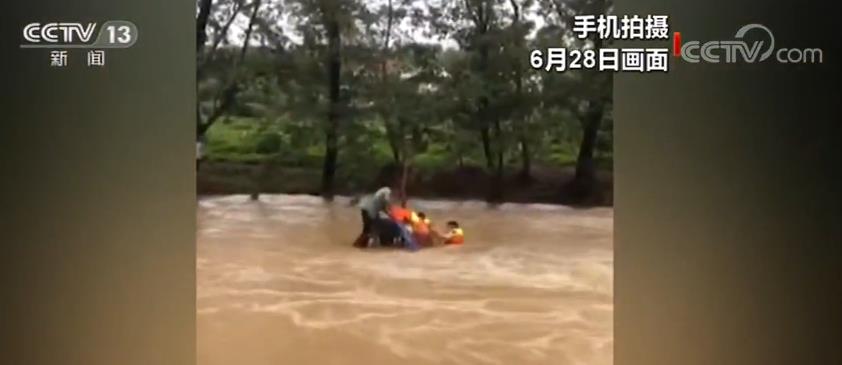
[[[201, 192], [331, 196], [390, 184], [610, 203], [611, 75], [529, 66], [532, 49], [601, 47], [569, 24], [610, 12], [604, 1], [199, 0], [199, 9]], [[249, 41], [228, 44], [244, 22]], [[468, 182], [475, 189], [448, 187]]]

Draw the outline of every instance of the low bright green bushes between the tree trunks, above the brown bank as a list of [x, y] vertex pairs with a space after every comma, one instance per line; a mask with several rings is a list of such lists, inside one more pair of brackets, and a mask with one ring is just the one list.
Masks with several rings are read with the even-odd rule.
[[[340, 140], [337, 178], [364, 185], [377, 171], [392, 163], [391, 148], [382, 123], [357, 122]], [[485, 156], [477, 143], [448, 143], [447, 138], [431, 141], [424, 152], [412, 157], [411, 165], [421, 178], [459, 166], [485, 166]], [[248, 117], [229, 117], [214, 124], [207, 132], [207, 158], [218, 162], [260, 163], [320, 171], [324, 159], [322, 130], [305, 122], [276, 120], [267, 122]], [[543, 145], [543, 148], [538, 146]], [[458, 149], [454, 147], [459, 147]], [[533, 165], [571, 166], [575, 164], [578, 145], [569, 141], [538, 143], [533, 151]], [[460, 156], [461, 155], [461, 156]], [[520, 168], [517, 146], [510, 146], [505, 156], [506, 169]], [[611, 166], [610, 152], [600, 152], [599, 166]]]

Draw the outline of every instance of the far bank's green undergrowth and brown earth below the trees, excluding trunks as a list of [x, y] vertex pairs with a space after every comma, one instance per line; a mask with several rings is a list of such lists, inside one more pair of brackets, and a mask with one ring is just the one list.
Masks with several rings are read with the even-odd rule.
[[[237, 118], [214, 125], [207, 134], [207, 155], [198, 171], [199, 194], [286, 193], [319, 194], [323, 145], [318, 134], [312, 140], [292, 139], [284, 130], [259, 121]], [[286, 124], [289, 128], [289, 124]], [[382, 185], [394, 185], [399, 169], [385, 137], [343, 141], [336, 192], [357, 195]], [[300, 134], [297, 134], [300, 135]], [[382, 137], [382, 138], [378, 138]], [[349, 148], [350, 147], [350, 148]], [[412, 159], [407, 183], [411, 196], [447, 199], [485, 199], [493, 177], [483, 166], [481, 149], [469, 148], [459, 155], [444, 144], [429, 143]], [[576, 146], [559, 144], [540, 151], [531, 176], [520, 173], [518, 154], [508, 156], [502, 183], [502, 200], [510, 202], [578, 203], [611, 205], [613, 179], [610, 156], [600, 156], [598, 181], [592, 196], [574, 199], [564, 188], [573, 178]], [[574, 201], [575, 200], [575, 201]]]

